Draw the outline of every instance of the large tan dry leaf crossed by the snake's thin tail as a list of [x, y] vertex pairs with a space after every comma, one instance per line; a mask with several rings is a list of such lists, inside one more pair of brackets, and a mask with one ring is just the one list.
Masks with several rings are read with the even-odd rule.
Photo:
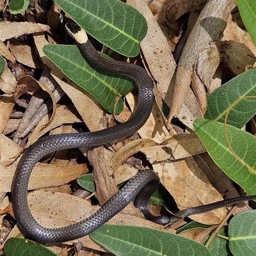
[[[180, 210], [223, 200], [191, 157], [174, 163], [153, 164], [153, 167]], [[225, 212], [225, 209], [217, 209], [189, 218], [212, 225], [220, 223], [225, 217]]]

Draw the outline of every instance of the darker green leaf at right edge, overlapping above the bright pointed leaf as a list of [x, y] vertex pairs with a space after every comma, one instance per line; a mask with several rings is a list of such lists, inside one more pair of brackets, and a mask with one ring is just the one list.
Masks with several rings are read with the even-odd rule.
[[[230, 104], [247, 95], [256, 95], [256, 68], [252, 68], [234, 77], [212, 92], [209, 97], [207, 97], [207, 111], [204, 118], [224, 122]], [[241, 100], [230, 111], [228, 124], [241, 128], [255, 113], [256, 99]]]

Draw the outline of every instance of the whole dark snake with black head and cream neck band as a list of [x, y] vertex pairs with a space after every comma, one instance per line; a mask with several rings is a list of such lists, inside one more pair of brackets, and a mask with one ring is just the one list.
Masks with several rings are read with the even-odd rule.
[[142, 170], [108, 200], [98, 211], [82, 221], [60, 228], [46, 228], [35, 220], [28, 205], [28, 182], [38, 161], [50, 152], [68, 148], [95, 147], [127, 138], [138, 131], [147, 121], [154, 103], [152, 79], [145, 69], [132, 63], [104, 58], [88, 40], [88, 36], [77, 24], [65, 25], [86, 60], [103, 71], [131, 77], [138, 87], [138, 103], [131, 118], [122, 124], [100, 131], [54, 134], [37, 140], [28, 147], [20, 158], [12, 182], [12, 207], [19, 227], [31, 238], [42, 243], [61, 243], [86, 236], [122, 211], [134, 198], [134, 205], [148, 220], [159, 224], [173, 223], [190, 214], [199, 214], [219, 207], [253, 200], [255, 196], [230, 198], [209, 205], [191, 207], [178, 211], [174, 216], [154, 216], [148, 209], [148, 200], [159, 185], [159, 175], [153, 170]]

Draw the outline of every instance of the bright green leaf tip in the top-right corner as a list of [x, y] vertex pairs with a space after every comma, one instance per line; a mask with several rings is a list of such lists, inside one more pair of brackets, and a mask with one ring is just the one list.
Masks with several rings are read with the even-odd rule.
[[256, 45], [256, 2], [255, 0], [236, 0], [244, 26]]

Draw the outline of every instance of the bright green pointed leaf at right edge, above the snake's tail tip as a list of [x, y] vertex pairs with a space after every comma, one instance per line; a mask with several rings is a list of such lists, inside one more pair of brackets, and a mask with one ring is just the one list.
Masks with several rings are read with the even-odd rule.
[[[196, 134], [207, 148], [207, 152], [221, 170], [230, 179], [239, 184], [248, 195], [255, 195], [256, 172], [246, 168], [234, 157], [225, 139], [224, 124], [211, 120], [197, 119], [193, 126]], [[255, 169], [256, 138], [252, 134], [230, 125], [227, 125], [227, 131], [228, 139], [234, 152], [245, 163]]]

